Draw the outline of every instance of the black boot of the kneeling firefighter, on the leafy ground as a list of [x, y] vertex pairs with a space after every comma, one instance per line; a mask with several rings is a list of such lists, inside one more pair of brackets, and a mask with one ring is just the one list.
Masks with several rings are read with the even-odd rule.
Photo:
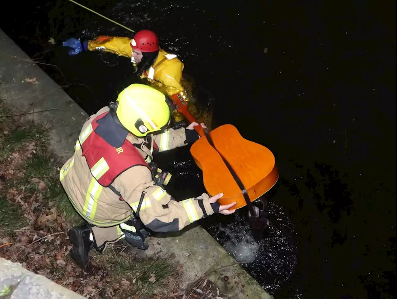
[[69, 241], [73, 245], [70, 256], [83, 269], [88, 265], [88, 253], [94, 244], [94, 241], [90, 240], [90, 233], [91, 229], [86, 223], [72, 227], [67, 233]]

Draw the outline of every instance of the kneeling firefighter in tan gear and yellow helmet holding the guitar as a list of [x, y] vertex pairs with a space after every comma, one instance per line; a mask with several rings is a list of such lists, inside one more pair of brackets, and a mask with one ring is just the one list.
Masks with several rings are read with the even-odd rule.
[[199, 138], [195, 122], [167, 129], [170, 110], [172, 101], [163, 93], [132, 84], [83, 125], [73, 157], [60, 170], [61, 184], [85, 220], [68, 232], [71, 257], [82, 268], [92, 248], [102, 252], [124, 238], [147, 249], [150, 231], [179, 231], [202, 217], [234, 212], [228, 210], [234, 204], [217, 202], [223, 194], [177, 202], [164, 190], [169, 174], [156, 167], [153, 155]]

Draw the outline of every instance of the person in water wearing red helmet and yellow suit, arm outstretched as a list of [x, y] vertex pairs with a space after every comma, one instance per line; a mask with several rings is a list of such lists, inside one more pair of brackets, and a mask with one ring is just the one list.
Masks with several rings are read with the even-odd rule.
[[[195, 115], [196, 108], [189, 102], [188, 92], [182, 87], [183, 63], [175, 54], [169, 54], [161, 49], [158, 44], [157, 35], [150, 30], [138, 31], [133, 39], [129, 37], [110, 37], [99, 36], [92, 41], [81, 43], [78, 39], [68, 39], [63, 43], [64, 47], [69, 47], [69, 54], [75, 55], [79, 52], [103, 50], [112, 52], [119, 56], [131, 58], [138, 76], [147, 79], [148, 83], [165, 93], [170, 98], [178, 95], [188, 101], [188, 107]], [[176, 121], [183, 119], [183, 115], [176, 110], [172, 112]]]

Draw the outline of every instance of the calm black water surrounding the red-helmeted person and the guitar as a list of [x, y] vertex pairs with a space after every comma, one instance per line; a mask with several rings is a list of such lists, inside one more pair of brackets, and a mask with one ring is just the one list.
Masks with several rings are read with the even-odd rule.
[[[197, 98], [212, 103], [215, 124], [235, 125], [276, 156], [280, 181], [272, 202], [295, 225], [298, 265], [275, 298], [294, 297], [295, 287], [302, 298], [397, 293], [397, 4], [79, 2], [136, 31], [155, 31], [185, 63]], [[56, 64], [65, 91], [87, 113], [136, 81], [127, 58], [71, 57], [59, 46], [69, 37], [131, 32], [67, 0], [7, 2], [2, 14], [12, 21], [2, 17], [0, 28], [31, 58]], [[57, 68], [40, 66], [67, 85]], [[191, 160], [186, 150], [173, 157]], [[178, 171], [183, 196], [197, 195], [200, 178]]]

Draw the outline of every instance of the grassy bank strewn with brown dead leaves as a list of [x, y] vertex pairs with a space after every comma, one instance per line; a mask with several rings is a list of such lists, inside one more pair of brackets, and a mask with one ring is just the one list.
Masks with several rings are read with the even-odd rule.
[[179, 268], [119, 242], [91, 252], [87, 272], [69, 258], [67, 230], [81, 222], [59, 183], [48, 130], [0, 104], [0, 256], [89, 298], [166, 298]]

